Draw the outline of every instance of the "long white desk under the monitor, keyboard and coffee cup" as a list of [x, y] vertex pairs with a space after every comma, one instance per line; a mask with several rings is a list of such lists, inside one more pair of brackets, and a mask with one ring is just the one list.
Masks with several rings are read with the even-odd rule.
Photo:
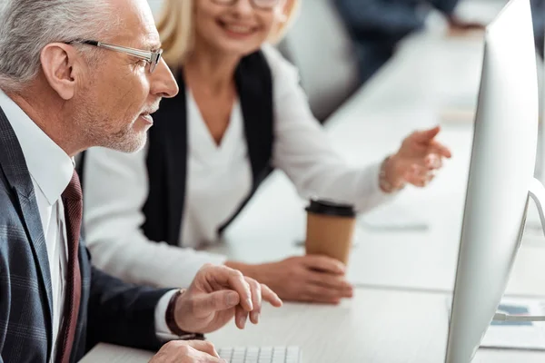
[[[354, 164], [381, 159], [415, 128], [440, 122], [441, 111], [474, 107], [481, 42], [422, 34], [333, 115], [332, 142]], [[391, 207], [410, 208], [431, 225], [425, 232], [358, 233], [350, 279], [359, 288], [341, 307], [287, 304], [265, 308], [258, 327], [232, 325], [209, 338], [218, 347], [299, 345], [306, 363], [438, 363], [446, 347], [445, 299], [453, 286], [461, 213], [471, 152], [471, 123], [443, 126], [454, 158], [430, 188], [405, 191]], [[301, 254], [304, 201], [281, 172], [263, 185], [212, 250], [233, 260], [260, 262]], [[541, 242], [544, 242], [541, 246]], [[511, 295], [545, 296], [545, 239], [525, 241], [508, 288]], [[101, 345], [85, 363], [144, 362], [149, 353]], [[481, 349], [474, 362], [533, 363], [542, 352]]]

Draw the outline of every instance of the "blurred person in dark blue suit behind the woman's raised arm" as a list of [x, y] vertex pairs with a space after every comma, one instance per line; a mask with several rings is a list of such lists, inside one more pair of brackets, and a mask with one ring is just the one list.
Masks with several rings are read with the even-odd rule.
[[[421, 30], [432, 9], [443, 14], [453, 33], [479, 30], [454, 15], [458, 0], [332, 0], [352, 35], [360, 82], [366, 83], [407, 35]], [[542, 1], [542, 0], [537, 0]]]

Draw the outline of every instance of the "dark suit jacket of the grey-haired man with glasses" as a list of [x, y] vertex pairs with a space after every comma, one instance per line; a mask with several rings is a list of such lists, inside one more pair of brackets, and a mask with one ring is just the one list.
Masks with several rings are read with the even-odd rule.
[[[82, 292], [71, 361], [86, 341], [160, 348], [154, 309], [165, 290], [124, 284], [91, 266], [80, 241]], [[0, 362], [48, 362], [52, 287], [45, 235], [25, 156], [0, 108]]]

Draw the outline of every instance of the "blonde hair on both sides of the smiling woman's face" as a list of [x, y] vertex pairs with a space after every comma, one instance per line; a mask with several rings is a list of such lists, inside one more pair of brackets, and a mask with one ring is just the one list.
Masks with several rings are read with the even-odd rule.
[[[193, 2], [195, 0], [164, 0], [157, 20], [157, 30], [163, 43], [163, 59], [173, 70], [183, 64], [183, 58], [193, 46]], [[289, 0], [288, 0], [289, 1]], [[283, 9], [285, 19], [269, 34], [268, 42], [282, 40], [299, 12], [300, 0], [292, 0]]]

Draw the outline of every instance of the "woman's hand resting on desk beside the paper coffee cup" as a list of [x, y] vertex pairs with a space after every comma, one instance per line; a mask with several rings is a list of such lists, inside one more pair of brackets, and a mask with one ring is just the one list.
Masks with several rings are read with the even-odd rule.
[[338, 304], [353, 295], [352, 285], [344, 276], [344, 265], [326, 256], [292, 257], [262, 265], [227, 265], [263, 281], [285, 300]]

